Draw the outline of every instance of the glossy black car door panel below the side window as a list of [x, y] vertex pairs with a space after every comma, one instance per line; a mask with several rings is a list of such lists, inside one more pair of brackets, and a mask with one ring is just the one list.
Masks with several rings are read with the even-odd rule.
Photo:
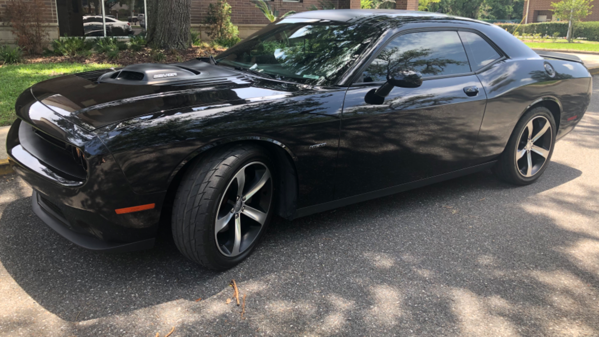
[[467, 167], [486, 97], [468, 97], [464, 88], [480, 85], [476, 75], [429, 79], [419, 88], [394, 88], [380, 105], [364, 101], [373, 86], [350, 88], [335, 198]]

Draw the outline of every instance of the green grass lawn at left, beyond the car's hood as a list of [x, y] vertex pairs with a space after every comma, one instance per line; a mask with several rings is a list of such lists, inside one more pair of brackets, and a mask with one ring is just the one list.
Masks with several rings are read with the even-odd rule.
[[52, 77], [114, 67], [112, 64], [38, 63], [0, 67], [0, 126], [11, 125], [14, 103], [25, 89]]

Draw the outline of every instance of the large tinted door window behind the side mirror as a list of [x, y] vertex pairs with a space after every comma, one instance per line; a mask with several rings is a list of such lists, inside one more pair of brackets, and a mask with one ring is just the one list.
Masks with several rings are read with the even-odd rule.
[[470, 73], [458, 32], [417, 32], [400, 35], [364, 71], [362, 82], [385, 81], [388, 71], [415, 70], [422, 77]]

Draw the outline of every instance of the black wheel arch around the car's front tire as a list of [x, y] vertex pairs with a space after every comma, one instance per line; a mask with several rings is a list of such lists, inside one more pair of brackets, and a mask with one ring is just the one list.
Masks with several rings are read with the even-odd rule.
[[219, 139], [216, 142], [204, 145], [190, 153], [183, 161], [181, 161], [181, 163], [179, 163], [179, 165], [177, 165], [168, 179], [167, 195], [165, 197], [166, 207], [164, 207], [164, 210], [168, 211], [162, 212], [161, 223], [170, 224], [170, 210], [172, 209], [174, 195], [177, 192], [177, 187], [181, 182], [183, 174], [187, 168], [190, 167], [190, 163], [198, 160], [208, 152], [216, 151], [216, 149], [232, 143], [254, 143], [270, 152], [279, 178], [276, 185], [276, 188], [278, 189], [278, 198], [276, 199], [277, 204], [275, 205], [275, 212], [285, 219], [292, 219], [295, 214], [295, 209], [297, 209], [299, 191], [296, 165], [298, 161], [297, 156], [288, 146], [278, 140], [263, 136], [240, 136]]

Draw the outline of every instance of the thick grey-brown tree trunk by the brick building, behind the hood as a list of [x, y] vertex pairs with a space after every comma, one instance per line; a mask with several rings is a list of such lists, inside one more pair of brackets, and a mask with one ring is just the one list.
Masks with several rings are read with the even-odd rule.
[[148, 43], [161, 49], [191, 47], [191, 0], [152, 0], [148, 7]]

